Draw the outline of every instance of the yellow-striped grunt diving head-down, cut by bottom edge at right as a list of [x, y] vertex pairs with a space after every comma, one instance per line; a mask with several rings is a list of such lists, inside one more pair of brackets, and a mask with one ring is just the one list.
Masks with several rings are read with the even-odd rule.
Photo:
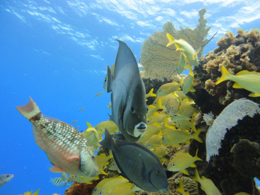
[[193, 181], [199, 182], [201, 184], [201, 190], [203, 190], [207, 195], [221, 195], [211, 179], [207, 179], [204, 176], [200, 178], [197, 169], [195, 169], [195, 177], [193, 178]]

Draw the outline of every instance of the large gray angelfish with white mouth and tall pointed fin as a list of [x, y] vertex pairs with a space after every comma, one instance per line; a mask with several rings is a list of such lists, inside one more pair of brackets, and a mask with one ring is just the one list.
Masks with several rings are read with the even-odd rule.
[[147, 105], [144, 82], [130, 48], [119, 41], [114, 75], [107, 66], [107, 92], [111, 92], [112, 115], [125, 139], [136, 142], [146, 131]]

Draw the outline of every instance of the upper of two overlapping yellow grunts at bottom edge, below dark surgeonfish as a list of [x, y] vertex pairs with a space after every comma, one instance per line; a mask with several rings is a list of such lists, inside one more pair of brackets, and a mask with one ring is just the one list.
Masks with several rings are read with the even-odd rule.
[[101, 180], [92, 191], [92, 195], [109, 194], [117, 186], [129, 183], [123, 176]]

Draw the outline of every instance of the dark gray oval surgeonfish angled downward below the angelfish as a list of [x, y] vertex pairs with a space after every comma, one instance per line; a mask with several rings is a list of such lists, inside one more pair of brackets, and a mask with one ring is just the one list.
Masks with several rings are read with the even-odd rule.
[[105, 129], [105, 139], [99, 143], [112, 150], [122, 175], [136, 186], [148, 192], [169, 191], [162, 163], [150, 150], [126, 140], [114, 141], [107, 129]]

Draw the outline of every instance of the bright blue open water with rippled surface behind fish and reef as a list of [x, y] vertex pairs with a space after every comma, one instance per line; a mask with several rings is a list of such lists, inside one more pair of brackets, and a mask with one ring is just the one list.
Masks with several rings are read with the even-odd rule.
[[[64, 194], [65, 188], [49, 182], [60, 174], [48, 170], [52, 165], [35, 143], [31, 123], [15, 106], [24, 105], [30, 96], [45, 115], [69, 124], [78, 120], [73, 124], [78, 130], [87, 129], [86, 122], [94, 126], [107, 120], [110, 94], [94, 95], [104, 90], [106, 66], [115, 62], [116, 38], [129, 45], [138, 61], [143, 41], [163, 23], [194, 28], [198, 10], [204, 7], [210, 35], [219, 31], [204, 53], [213, 50], [226, 31], [258, 28], [260, 23], [254, 1], [140, 2], [0, 2], [0, 174], [14, 174], [0, 187], [1, 195], [39, 188], [39, 195]], [[238, 19], [241, 14], [243, 19]]]

